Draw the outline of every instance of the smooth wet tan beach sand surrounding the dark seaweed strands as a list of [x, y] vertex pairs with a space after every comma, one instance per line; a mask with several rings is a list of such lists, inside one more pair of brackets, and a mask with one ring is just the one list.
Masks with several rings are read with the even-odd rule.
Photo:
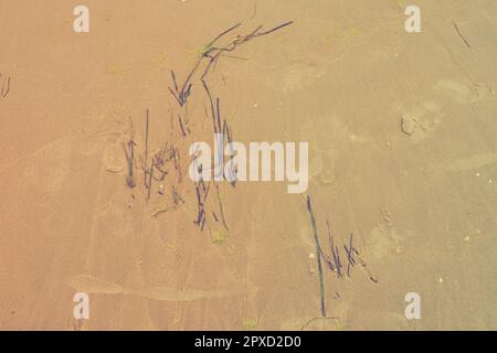
[[[91, 31], [75, 34], [71, 2], [0, 1], [0, 329], [497, 329], [495, 1], [420, 0], [415, 34], [402, 0], [85, 4]], [[191, 135], [171, 128], [171, 69], [183, 81], [236, 22], [289, 20], [210, 83], [235, 140], [309, 141], [321, 243], [329, 221], [367, 263], [350, 278], [324, 269], [328, 319], [305, 195], [221, 183], [229, 231], [209, 214], [200, 232], [193, 182], [171, 173], [147, 202], [139, 164], [147, 108], [150, 154], [175, 131], [184, 168], [189, 141], [212, 143], [198, 79]], [[89, 320], [73, 319], [77, 291]], [[422, 320], [405, 319], [408, 292]]]

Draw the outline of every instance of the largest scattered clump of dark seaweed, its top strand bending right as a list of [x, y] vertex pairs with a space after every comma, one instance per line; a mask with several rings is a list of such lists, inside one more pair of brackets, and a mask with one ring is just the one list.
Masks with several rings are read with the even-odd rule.
[[[138, 161], [136, 160], [135, 156], [137, 143], [134, 138], [131, 124], [130, 138], [126, 143], [124, 143], [128, 167], [126, 175], [126, 183], [128, 188], [133, 189], [137, 185], [136, 175], [134, 172], [135, 169], [140, 169], [144, 178], [142, 186], [146, 193], [147, 203], [150, 201], [151, 195], [155, 194], [156, 189], [158, 194], [160, 195], [163, 195], [166, 193], [163, 184], [167, 182], [170, 182], [171, 185], [170, 190], [173, 208], [184, 203], [184, 200], [180, 193], [181, 189], [179, 188], [183, 175], [179, 146], [181, 146], [181, 141], [187, 140], [192, 132], [190, 128], [190, 119], [188, 116], [188, 101], [192, 94], [192, 87], [195, 86], [195, 84], [199, 84], [209, 98], [209, 108], [205, 108], [205, 111], [207, 116], [212, 120], [213, 132], [222, 133], [224, 140], [228, 141], [228, 143], [232, 142], [233, 136], [229, 126], [229, 121], [223, 118], [221, 113], [221, 98], [215, 96], [210, 88], [208, 77], [215, 69], [221, 57], [234, 57], [233, 55], [231, 55], [231, 53], [233, 53], [244, 43], [247, 43], [256, 38], [276, 32], [292, 23], [292, 21], [285, 22], [269, 30], [264, 30], [263, 26], [260, 25], [256, 29], [252, 30], [248, 34], [235, 35], [234, 31], [241, 26], [241, 23], [236, 23], [235, 25], [218, 34], [203, 47], [202, 52], [200, 53], [200, 57], [198, 58], [193, 67], [188, 72], [186, 79], [181, 84], [179, 84], [176, 73], [173, 71], [170, 72], [172, 85], [168, 88], [178, 103], [180, 111], [178, 113], [173, 111], [173, 109], [170, 109], [171, 135], [167, 143], [165, 143], [159, 151], [152, 153], [150, 152], [149, 146], [150, 111], [149, 109], [147, 109], [145, 119], [144, 146], [141, 154], [137, 158]], [[231, 38], [229, 38], [230, 35]], [[192, 159], [194, 161], [195, 157], [193, 157]], [[187, 162], [187, 160], [184, 160], [184, 162]], [[229, 180], [231, 185], [235, 188], [236, 168], [233, 167], [233, 163], [231, 164], [231, 175], [229, 175]], [[203, 167], [198, 165], [197, 168], [201, 172]], [[213, 165], [212, 168], [216, 168], [216, 165]], [[168, 178], [168, 175], [171, 174], [176, 175], [177, 180], [171, 180], [173, 176]], [[166, 178], [168, 179], [166, 180]], [[226, 175], [223, 175], [223, 178], [226, 179]], [[155, 186], [155, 182], [160, 182], [159, 188]], [[197, 217], [193, 220], [193, 223], [198, 225], [201, 231], [203, 231], [208, 223], [208, 218], [213, 220], [215, 223], [219, 223], [219, 227], [222, 227], [223, 232], [228, 232], [228, 222], [223, 210], [220, 188], [216, 182], [207, 182], [200, 180], [194, 183], [194, 193], [197, 196]], [[169, 189], [169, 186], [167, 189]], [[213, 192], [210, 192], [211, 190], [213, 190]], [[209, 197], [211, 194], [213, 194], [213, 197]], [[152, 214], [156, 217], [170, 208], [163, 205], [162, 201], [160, 202], [160, 208]]]

